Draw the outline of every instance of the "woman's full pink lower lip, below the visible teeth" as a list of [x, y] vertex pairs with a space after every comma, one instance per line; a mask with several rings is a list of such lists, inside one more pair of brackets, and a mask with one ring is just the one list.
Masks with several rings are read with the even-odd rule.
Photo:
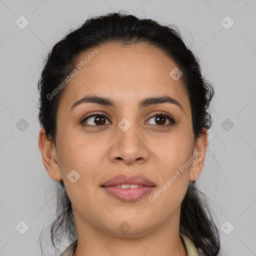
[[150, 193], [154, 186], [141, 186], [137, 188], [119, 188], [116, 186], [103, 186], [104, 190], [112, 196], [125, 201], [133, 202]]

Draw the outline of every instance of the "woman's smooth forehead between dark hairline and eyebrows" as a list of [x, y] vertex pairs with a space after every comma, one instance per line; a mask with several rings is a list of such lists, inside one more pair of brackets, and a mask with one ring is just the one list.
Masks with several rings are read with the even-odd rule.
[[[91, 54], [95, 49], [98, 52]], [[107, 43], [79, 54], [75, 67], [77, 73], [66, 85], [61, 98], [65, 98], [62, 100], [70, 107], [89, 93], [113, 98], [117, 104], [123, 105], [166, 94], [182, 101], [184, 108], [189, 107], [182, 79], [174, 80], [169, 75], [175, 67], [175, 61], [156, 46]]]

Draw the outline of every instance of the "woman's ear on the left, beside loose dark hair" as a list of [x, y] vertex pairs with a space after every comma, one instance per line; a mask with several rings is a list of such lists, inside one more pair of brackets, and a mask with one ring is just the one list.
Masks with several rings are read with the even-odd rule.
[[53, 180], [61, 180], [62, 176], [59, 168], [55, 144], [47, 138], [44, 128], [41, 128], [39, 131], [38, 147], [42, 155], [43, 165], [47, 170], [48, 175]]

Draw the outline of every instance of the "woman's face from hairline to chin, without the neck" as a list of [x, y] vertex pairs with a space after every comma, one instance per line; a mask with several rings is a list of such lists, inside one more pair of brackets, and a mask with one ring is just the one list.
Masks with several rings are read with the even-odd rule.
[[[139, 236], [170, 220], [178, 225], [188, 181], [202, 168], [197, 165], [204, 152], [198, 149], [205, 145], [193, 140], [182, 75], [176, 79], [176, 69], [170, 75], [175, 62], [152, 45], [104, 44], [96, 49], [96, 54], [91, 54], [94, 48], [80, 54], [77, 64], [87, 57], [86, 62], [79, 65], [81, 70], [76, 68], [61, 95], [56, 163], [48, 173], [63, 179], [77, 232], [84, 225], [122, 236], [126, 227], [128, 234]], [[73, 106], [84, 96], [108, 98], [114, 105], [83, 101]], [[150, 100], [140, 104], [162, 96], [180, 105]], [[95, 115], [85, 119], [89, 113]], [[141, 175], [155, 186], [140, 198], [120, 199], [102, 187], [117, 175]]]

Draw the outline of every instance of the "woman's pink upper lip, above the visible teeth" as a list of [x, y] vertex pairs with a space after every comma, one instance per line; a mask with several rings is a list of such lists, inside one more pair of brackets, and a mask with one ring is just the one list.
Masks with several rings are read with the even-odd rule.
[[122, 185], [122, 184], [138, 184], [143, 186], [155, 186], [155, 184], [151, 180], [141, 175], [135, 175], [135, 176], [117, 175], [105, 181], [101, 186], [115, 186], [115, 185]]

